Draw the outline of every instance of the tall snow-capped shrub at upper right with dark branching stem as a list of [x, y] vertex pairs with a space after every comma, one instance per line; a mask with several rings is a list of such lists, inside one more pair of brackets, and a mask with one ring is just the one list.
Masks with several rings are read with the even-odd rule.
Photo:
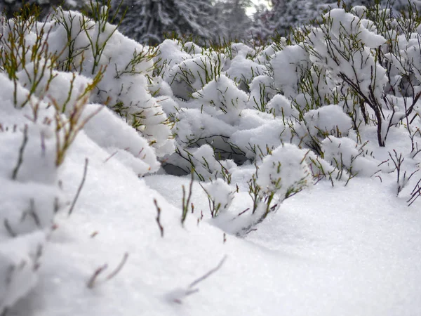
[[[307, 30], [303, 42], [310, 60], [325, 73], [325, 81], [334, 84], [334, 98], [345, 102], [344, 110], [352, 115], [354, 127], [361, 122], [369, 124], [370, 112], [373, 113], [380, 146], [385, 145], [389, 129], [413, 112], [419, 98], [417, 88], [414, 89], [419, 84], [411, 80], [412, 98], [407, 100], [406, 111], [396, 111], [392, 102], [394, 96], [408, 93], [399, 88], [402, 78], [409, 78], [404, 67], [399, 66], [406, 63], [407, 54], [396, 50], [399, 34], [408, 21], [389, 21], [393, 20], [389, 12], [379, 7], [359, 7], [350, 12], [333, 9], [324, 15], [319, 26]], [[403, 40], [401, 43], [405, 45]], [[416, 72], [417, 62], [409, 59]]]

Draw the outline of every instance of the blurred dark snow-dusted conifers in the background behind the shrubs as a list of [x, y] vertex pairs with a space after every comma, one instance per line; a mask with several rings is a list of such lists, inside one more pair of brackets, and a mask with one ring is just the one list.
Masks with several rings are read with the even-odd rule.
[[[90, 1], [107, 4], [107, 0], [0, 0], [0, 10], [10, 18], [23, 4], [36, 4], [41, 18], [53, 6], [83, 11]], [[392, 4], [395, 12], [408, 0], [343, 0], [347, 8], [371, 6], [379, 2]], [[421, 1], [410, 0], [414, 5]], [[121, 0], [112, 0], [116, 12]], [[142, 44], [156, 45], [163, 39], [191, 36], [199, 44], [209, 41], [270, 39], [274, 34], [286, 36], [291, 27], [318, 19], [328, 8], [337, 8], [338, 0], [123, 0], [117, 18], [123, 18], [120, 32]], [[126, 15], [123, 12], [126, 11]]]

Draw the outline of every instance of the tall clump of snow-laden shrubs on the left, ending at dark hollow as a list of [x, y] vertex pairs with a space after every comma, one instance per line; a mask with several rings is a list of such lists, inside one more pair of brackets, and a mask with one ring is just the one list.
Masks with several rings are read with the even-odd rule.
[[[36, 285], [55, 215], [69, 202], [60, 166], [83, 129], [139, 176], [159, 169], [157, 155], [174, 151], [166, 115], [147, 90], [152, 56], [106, 22], [106, 8], [95, 8], [97, 19], [57, 10], [46, 22], [21, 15], [1, 25], [2, 315]], [[124, 111], [137, 129], [106, 99], [133, 105]]]

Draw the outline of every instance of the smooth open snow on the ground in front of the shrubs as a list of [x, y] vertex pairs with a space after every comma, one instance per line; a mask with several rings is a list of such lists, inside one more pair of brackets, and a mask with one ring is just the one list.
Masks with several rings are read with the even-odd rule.
[[[60, 173], [67, 195], [79, 186], [85, 157], [76, 209], [56, 218], [39, 284], [10, 315], [420, 315], [420, 204], [408, 208], [396, 198], [390, 178], [355, 178], [347, 187], [320, 182], [245, 238], [224, 237], [212, 220], [197, 223], [200, 211], [208, 213], [199, 185], [182, 228], [181, 186], [189, 178], [139, 179], [114, 159], [105, 162], [109, 154], [83, 133]], [[234, 201], [236, 209], [246, 206]], [[126, 265], [106, 280], [126, 252]], [[199, 292], [174, 294], [224, 256]]]

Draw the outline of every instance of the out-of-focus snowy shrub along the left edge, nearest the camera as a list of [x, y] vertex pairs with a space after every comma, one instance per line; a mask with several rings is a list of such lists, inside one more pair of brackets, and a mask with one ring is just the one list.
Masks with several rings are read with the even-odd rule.
[[1, 313], [36, 284], [46, 234], [63, 204], [58, 166], [67, 150], [66, 139], [72, 142], [67, 136], [81, 129], [76, 117], [72, 125], [62, 117], [61, 107], [37, 98], [48, 92], [42, 79], [54, 79], [52, 62], [46, 60], [52, 55], [40, 34], [30, 30], [35, 20], [28, 23], [25, 29], [20, 18], [8, 20], [0, 39]]

